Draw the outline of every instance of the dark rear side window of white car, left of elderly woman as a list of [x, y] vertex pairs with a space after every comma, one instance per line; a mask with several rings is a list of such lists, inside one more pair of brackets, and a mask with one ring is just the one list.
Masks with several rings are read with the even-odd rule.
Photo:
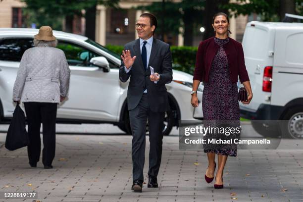
[[34, 46], [33, 39], [0, 40], [0, 60], [19, 62], [25, 50]]

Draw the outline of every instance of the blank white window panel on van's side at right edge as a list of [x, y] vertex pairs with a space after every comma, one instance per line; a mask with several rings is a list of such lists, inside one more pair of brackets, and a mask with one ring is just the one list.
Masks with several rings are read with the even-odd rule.
[[286, 61], [303, 65], [303, 33], [290, 35], [286, 40]]

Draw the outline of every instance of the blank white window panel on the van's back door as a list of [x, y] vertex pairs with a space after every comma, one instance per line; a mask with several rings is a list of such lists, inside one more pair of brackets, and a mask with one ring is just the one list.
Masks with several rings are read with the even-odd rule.
[[252, 59], [264, 59], [268, 56], [269, 33], [255, 27], [247, 27], [243, 40], [244, 55]]

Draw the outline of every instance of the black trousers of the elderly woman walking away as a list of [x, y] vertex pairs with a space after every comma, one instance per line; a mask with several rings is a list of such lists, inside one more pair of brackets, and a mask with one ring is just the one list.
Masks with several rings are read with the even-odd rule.
[[30, 163], [37, 163], [40, 158], [40, 127], [43, 124], [42, 162], [50, 166], [55, 155], [57, 103], [24, 102], [28, 122], [29, 145], [27, 153]]

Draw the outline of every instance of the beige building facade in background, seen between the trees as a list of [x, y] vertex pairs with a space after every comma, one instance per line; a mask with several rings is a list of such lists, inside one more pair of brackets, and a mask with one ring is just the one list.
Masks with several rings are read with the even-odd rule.
[[[142, 5], [148, 5], [152, 2], [162, 0], [120, 0], [119, 9], [107, 8], [103, 5], [97, 6], [96, 12], [96, 34], [95, 40], [101, 45], [124, 45], [134, 39], [137, 39], [137, 33], [135, 30], [135, 23], [139, 19], [143, 10], [137, 10], [136, 7]], [[174, 0], [179, 2], [181, 0]], [[0, 1], [0, 27], [32, 27], [35, 28], [35, 24], [31, 26], [25, 25], [25, 14], [23, 9], [26, 6], [24, 2], [20, 0], [2, 0]], [[255, 17], [250, 17], [250, 20]], [[231, 38], [237, 41], [242, 41], [246, 23], [248, 22], [248, 16], [240, 15], [237, 18], [232, 17], [230, 19], [230, 30], [232, 34]], [[84, 17], [74, 16], [72, 32], [75, 34], [85, 34]], [[62, 30], [65, 30], [63, 21]], [[39, 28], [39, 27], [38, 27]], [[182, 32], [182, 28], [179, 29]], [[202, 41], [202, 32], [196, 30], [196, 34], [193, 36], [193, 46], [198, 46]], [[164, 41], [173, 46], [183, 46], [183, 35], [165, 35]]]

